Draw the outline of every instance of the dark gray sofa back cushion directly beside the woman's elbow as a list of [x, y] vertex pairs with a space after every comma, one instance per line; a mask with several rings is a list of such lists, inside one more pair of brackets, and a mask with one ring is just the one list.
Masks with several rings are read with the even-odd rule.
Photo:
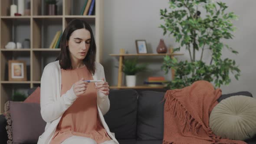
[[132, 89], [110, 90], [110, 109], [105, 121], [117, 139], [135, 139], [138, 92]]

